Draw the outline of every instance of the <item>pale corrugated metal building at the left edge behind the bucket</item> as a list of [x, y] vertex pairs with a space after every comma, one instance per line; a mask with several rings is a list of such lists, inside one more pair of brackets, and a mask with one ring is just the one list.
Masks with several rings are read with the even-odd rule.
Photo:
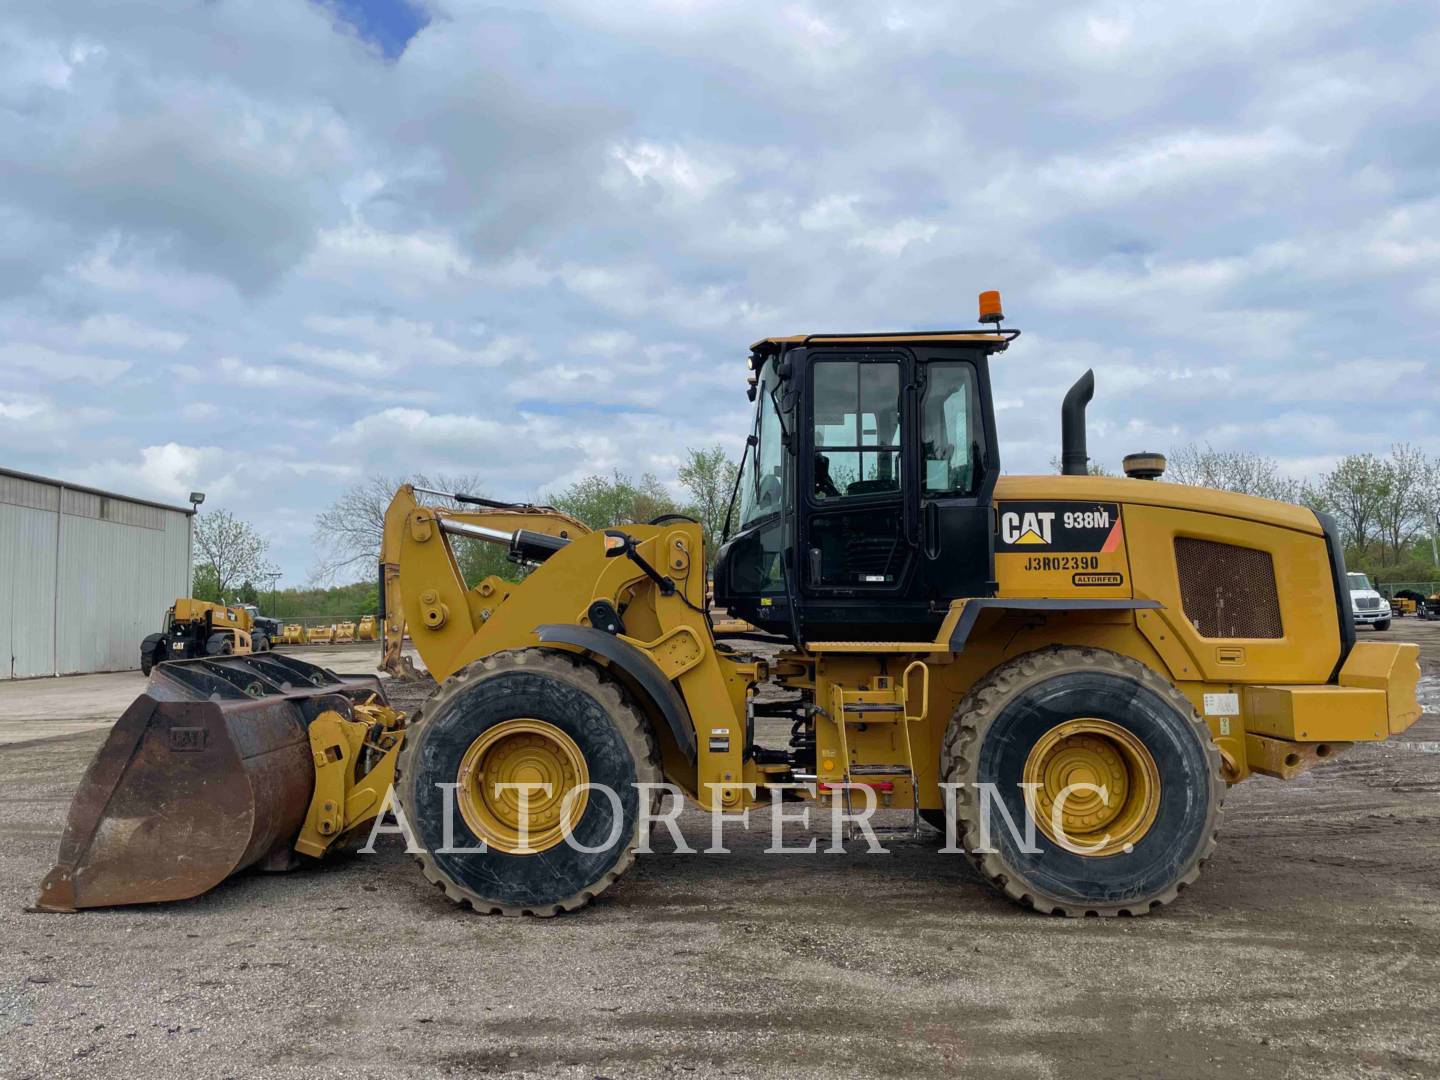
[[0, 468], [0, 678], [138, 668], [190, 595], [193, 513]]

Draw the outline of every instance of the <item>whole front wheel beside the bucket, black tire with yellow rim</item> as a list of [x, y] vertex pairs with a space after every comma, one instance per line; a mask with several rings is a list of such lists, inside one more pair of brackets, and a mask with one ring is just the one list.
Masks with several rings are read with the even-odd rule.
[[[495, 778], [552, 789], [511, 796]], [[624, 688], [595, 664], [537, 648], [498, 652], [445, 680], [396, 763], [396, 795], [423, 848], [425, 877], [475, 912], [511, 916], [575, 910], [609, 888], [642, 841], [636, 785], [660, 779], [654, 739]], [[448, 852], [446, 798], [436, 786], [445, 783], [456, 785]], [[564, 792], [580, 783], [595, 786], [566, 804]], [[654, 812], [658, 791], [648, 798]], [[530, 851], [516, 841], [521, 799]], [[464, 851], [481, 842], [484, 852]]]

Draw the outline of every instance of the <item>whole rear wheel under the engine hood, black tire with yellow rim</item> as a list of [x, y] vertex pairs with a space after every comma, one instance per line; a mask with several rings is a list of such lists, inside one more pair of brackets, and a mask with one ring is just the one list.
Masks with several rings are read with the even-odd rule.
[[[940, 770], [956, 788], [960, 845], [1021, 904], [1066, 916], [1146, 914], [1200, 877], [1215, 848], [1220, 752], [1189, 700], [1143, 664], [1093, 648], [1048, 648], [981, 680], [950, 719]], [[1035, 783], [1034, 844], [1018, 842], [976, 785], [1024, 832]], [[1050, 814], [1061, 799], [1067, 850]], [[989, 851], [976, 851], [986, 835]], [[1087, 832], [1087, 829], [1093, 829]], [[1025, 847], [1037, 848], [1025, 851]]]

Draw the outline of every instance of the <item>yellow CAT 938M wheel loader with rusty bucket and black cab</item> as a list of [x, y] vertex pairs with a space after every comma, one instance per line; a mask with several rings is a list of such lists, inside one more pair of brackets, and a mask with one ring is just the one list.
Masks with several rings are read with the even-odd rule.
[[[402, 487], [383, 667], [409, 671], [408, 629], [435, 694], [400, 719], [373, 683], [292, 658], [161, 665], [86, 776], [39, 906], [184, 891], [187, 845], [150, 829], [192, 816], [233, 835], [186, 873], [190, 894], [393, 809], [454, 900], [554, 914], [625, 873], [662, 785], [720, 814], [779, 812], [779, 796], [851, 824], [909, 811], [1040, 912], [1174, 900], [1214, 851], [1228, 785], [1414, 723], [1418, 649], [1356, 644], [1326, 517], [1166, 484], [1158, 455], [1087, 475], [1090, 373], [1061, 409], [1063, 475], [1002, 477], [989, 366], [1018, 331], [995, 294], [981, 314], [979, 330], [752, 347], [755, 419], [713, 567], [716, 606], [749, 624], [733, 636], [711, 626], [688, 518], [590, 531]], [[469, 585], [455, 537], [531, 572]], [[757, 720], [788, 737], [757, 739]], [[204, 776], [225, 816], [203, 808]]]

